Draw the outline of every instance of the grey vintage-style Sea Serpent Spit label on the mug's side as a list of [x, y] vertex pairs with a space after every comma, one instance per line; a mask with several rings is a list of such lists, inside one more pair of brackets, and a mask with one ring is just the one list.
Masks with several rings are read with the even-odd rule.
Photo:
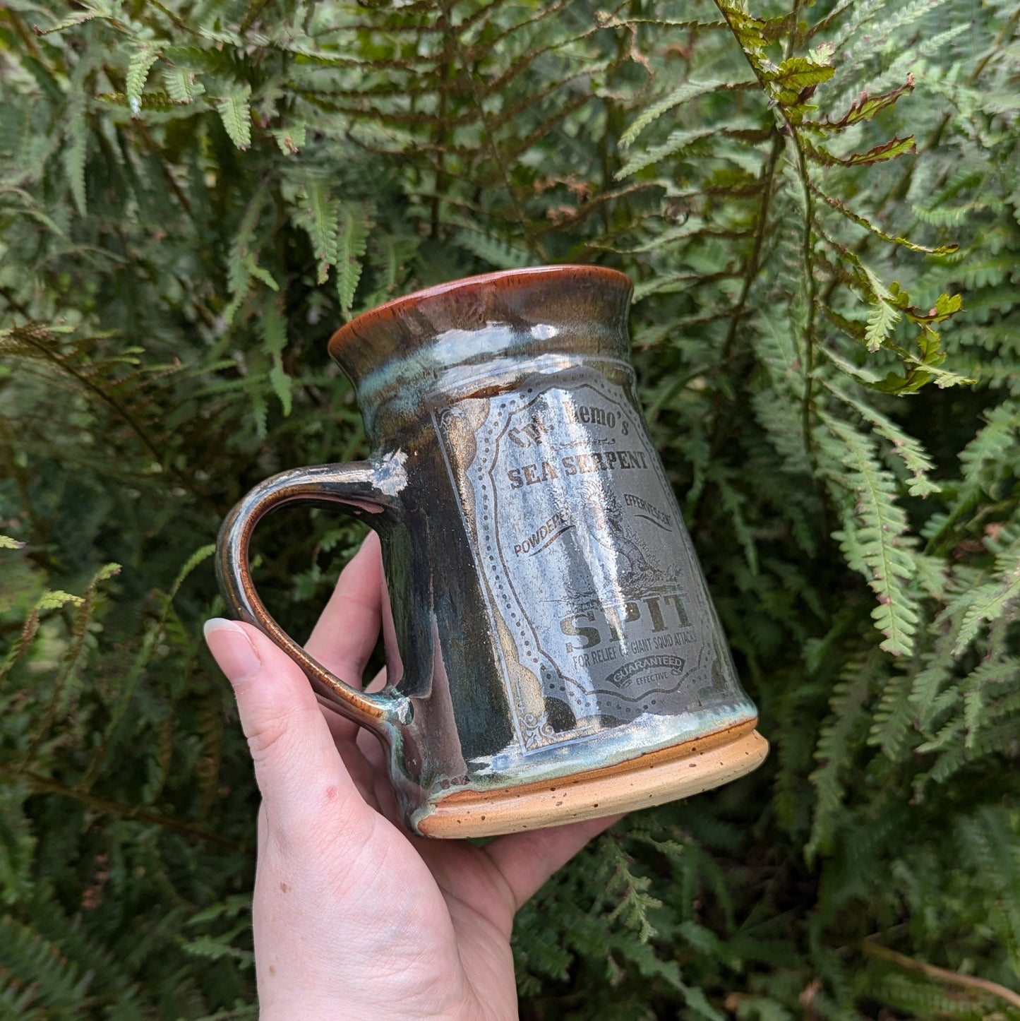
[[522, 750], [723, 700], [734, 682], [708, 594], [622, 388], [586, 369], [535, 377], [436, 427]]

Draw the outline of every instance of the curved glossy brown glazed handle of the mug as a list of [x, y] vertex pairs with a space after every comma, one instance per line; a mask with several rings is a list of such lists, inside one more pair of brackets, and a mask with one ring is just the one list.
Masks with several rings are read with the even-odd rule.
[[[238, 502], [224, 521], [216, 542], [220, 587], [236, 616], [263, 631], [300, 666], [320, 702], [383, 736], [409, 721], [407, 699], [392, 692], [361, 691], [298, 645], [273, 619], [255, 591], [248, 568], [248, 544], [265, 514], [297, 500], [340, 504], [356, 518], [365, 516], [378, 530], [378, 526], [391, 524], [399, 514], [394, 493], [402, 488], [402, 465], [390, 457], [381, 463], [361, 460], [281, 472], [259, 483]], [[373, 522], [372, 516], [376, 515], [381, 517]]]

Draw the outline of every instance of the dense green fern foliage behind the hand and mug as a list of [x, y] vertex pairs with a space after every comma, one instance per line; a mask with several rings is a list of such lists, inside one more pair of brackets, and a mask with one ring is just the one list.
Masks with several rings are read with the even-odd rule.
[[[8, 0], [0, 1015], [254, 1016], [209, 544], [366, 453], [337, 325], [575, 261], [773, 751], [524, 909], [522, 1016], [1020, 1017], [1018, 16]], [[259, 530], [293, 633], [357, 540]]]

